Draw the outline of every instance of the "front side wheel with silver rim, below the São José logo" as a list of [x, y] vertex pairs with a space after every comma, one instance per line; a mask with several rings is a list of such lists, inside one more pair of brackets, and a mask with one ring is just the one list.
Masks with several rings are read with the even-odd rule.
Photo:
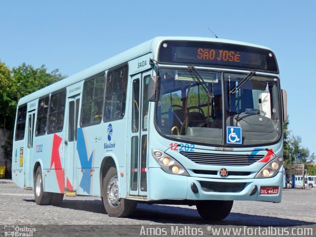
[[118, 198], [118, 172], [111, 167], [103, 178], [103, 205], [105, 211], [112, 217], [127, 217], [137, 206], [137, 201]]

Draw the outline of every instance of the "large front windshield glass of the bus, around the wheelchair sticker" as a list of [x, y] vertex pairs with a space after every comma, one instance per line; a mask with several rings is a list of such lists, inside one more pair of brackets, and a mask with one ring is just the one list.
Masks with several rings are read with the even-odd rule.
[[[247, 74], [196, 71], [203, 81], [190, 70], [159, 69], [156, 121], [163, 135], [190, 143], [225, 145], [224, 131], [234, 126], [241, 127], [241, 146], [268, 144], [279, 138], [277, 78], [254, 75], [237, 86]], [[234, 88], [238, 89], [230, 93]]]

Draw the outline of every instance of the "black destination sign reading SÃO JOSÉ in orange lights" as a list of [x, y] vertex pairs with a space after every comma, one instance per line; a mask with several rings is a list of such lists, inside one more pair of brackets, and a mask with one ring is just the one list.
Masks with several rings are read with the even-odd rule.
[[159, 48], [158, 57], [160, 63], [167, 64], [278, 72], [272, 51], [239, 44], [164, 41]]

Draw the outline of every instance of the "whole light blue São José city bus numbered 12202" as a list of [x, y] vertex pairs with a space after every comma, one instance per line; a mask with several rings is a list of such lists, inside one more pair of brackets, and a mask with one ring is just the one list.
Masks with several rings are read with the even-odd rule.
[[18, 102], [13, 181], [40, 205], [98, 196], [196, 205], [220, 220], [234, 200], [280, 202], [286, 93], [269, 48], [157, 37]]

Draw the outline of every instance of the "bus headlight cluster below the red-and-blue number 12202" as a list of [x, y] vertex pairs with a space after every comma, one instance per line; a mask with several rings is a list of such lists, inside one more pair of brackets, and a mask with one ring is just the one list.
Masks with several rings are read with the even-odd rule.
[[153, 157], [157, 160], [161, 169], [168, 174], [177, 174], [190, 176], [187, 170], [180, 164], [176, 159], [168, 156], [167, 154], [158, 151], [152, 150]]

